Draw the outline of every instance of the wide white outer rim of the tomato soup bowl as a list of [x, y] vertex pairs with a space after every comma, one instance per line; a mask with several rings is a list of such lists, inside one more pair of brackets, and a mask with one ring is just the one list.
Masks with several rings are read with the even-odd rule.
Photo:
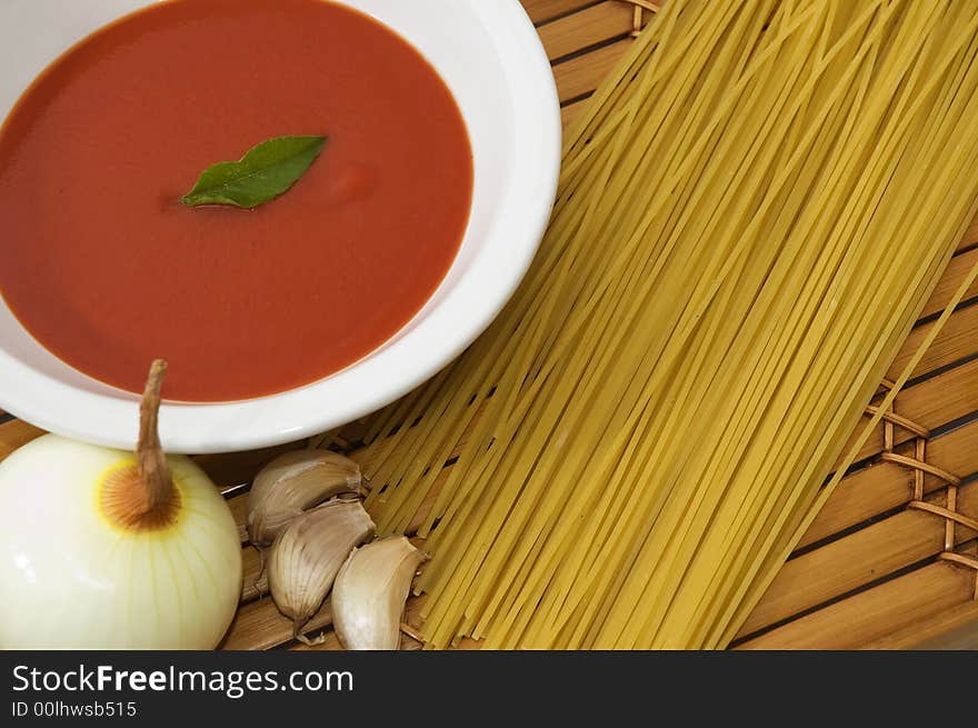
[[[512, 296], [536, 255], [557, 193], [562, 146], [559, 97], [547, 52], [519, 0], [466, 1], [497, 52], [512, 104], [516, 151], [488, 233], [493, 245], [482, 247], [423, 319], [407, 325], [340, 372], [285, 392], [233, 402], [164, 401], [160, 439], [167, 451], [230, 452], [282, 445], [363, 417], [448, 366]], [[507, 242], [496, 245], [499, 240]], [[487, 279], [493, 281], [489, 296], [482, 285]], [[446, 331], [452, 335], [447, 337]], [[412, 365], [406, 368], [399, 366], [401, 361]], [[330, 391], [336, 389], [369, 395], [337, 402]], [[137, 440], [134, 395], [74, 387], [2, 349], [0, 403], [11, 415], [64, 437], [124, 449]]]

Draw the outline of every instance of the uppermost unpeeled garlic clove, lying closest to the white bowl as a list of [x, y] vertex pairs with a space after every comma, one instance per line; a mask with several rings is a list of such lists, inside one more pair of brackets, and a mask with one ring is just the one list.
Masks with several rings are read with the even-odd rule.
[[341, 492], [360, 492], [360, 466], [329, 450], [293, 450], [255, 477], [248, 493], [248, 537], [268, 546], [308, 508]]

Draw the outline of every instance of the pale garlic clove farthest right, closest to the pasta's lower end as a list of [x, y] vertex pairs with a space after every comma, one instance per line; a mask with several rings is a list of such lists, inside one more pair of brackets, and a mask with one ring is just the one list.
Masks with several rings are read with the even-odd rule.
[[403, 536], [353, 549], [336, 577], [330, 604], [337, 636], [350, 650], [396, 650], [411, 580], [428, 557]]

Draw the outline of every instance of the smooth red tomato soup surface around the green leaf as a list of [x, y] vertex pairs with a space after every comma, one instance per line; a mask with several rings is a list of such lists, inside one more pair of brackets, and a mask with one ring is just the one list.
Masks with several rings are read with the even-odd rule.
[[[325, 134], [255, 210], [188, 208], [209, 166]], [[357, 361], [425, 305], [469, 216], [472, 154], [406, 41], [322, 0], [171, 0], [84, 40], [0, 131], [0, 293], [101, 381], [234, 400]]]

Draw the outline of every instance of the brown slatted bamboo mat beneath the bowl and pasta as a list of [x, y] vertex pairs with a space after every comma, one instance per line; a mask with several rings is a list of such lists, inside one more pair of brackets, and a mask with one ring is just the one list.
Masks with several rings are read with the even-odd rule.
[[[553, 64], [565, 123], [651, 17], [648, 0], [522, 0]], [[971, 226], [897, 361], [896, 377], [965, 272], [978, 262]], [[885, 385], [884, 385], [885, 386]], [[882, 391], [882, 388], [880, 389]], [[342, 435], [357, 440], [355, 423]], [[41, 435], [0, 412], [0, 459]], [[243, 523], [248, 480], [296, 443], [201, 456]], [[978, 285], [968, 292], [860, 460], [781, 569], [734, 644], [738, 649], [951, 648], [978, 641]], [[243, 529], [242, 529], [243, 533]], [[228, 649], [309, 649], [263, 596], [256, 551], [243, 547], [242, 604]], [[417, 619], [412, 598], [406, 620]], [[329, 605], [308, 626], [319, 634]], [[470, 646], [470, 645], [463, 645]], [[417, 642], [403, 638], [403, 647]], [[313, 649], [336, 649], [327, 632]]]

